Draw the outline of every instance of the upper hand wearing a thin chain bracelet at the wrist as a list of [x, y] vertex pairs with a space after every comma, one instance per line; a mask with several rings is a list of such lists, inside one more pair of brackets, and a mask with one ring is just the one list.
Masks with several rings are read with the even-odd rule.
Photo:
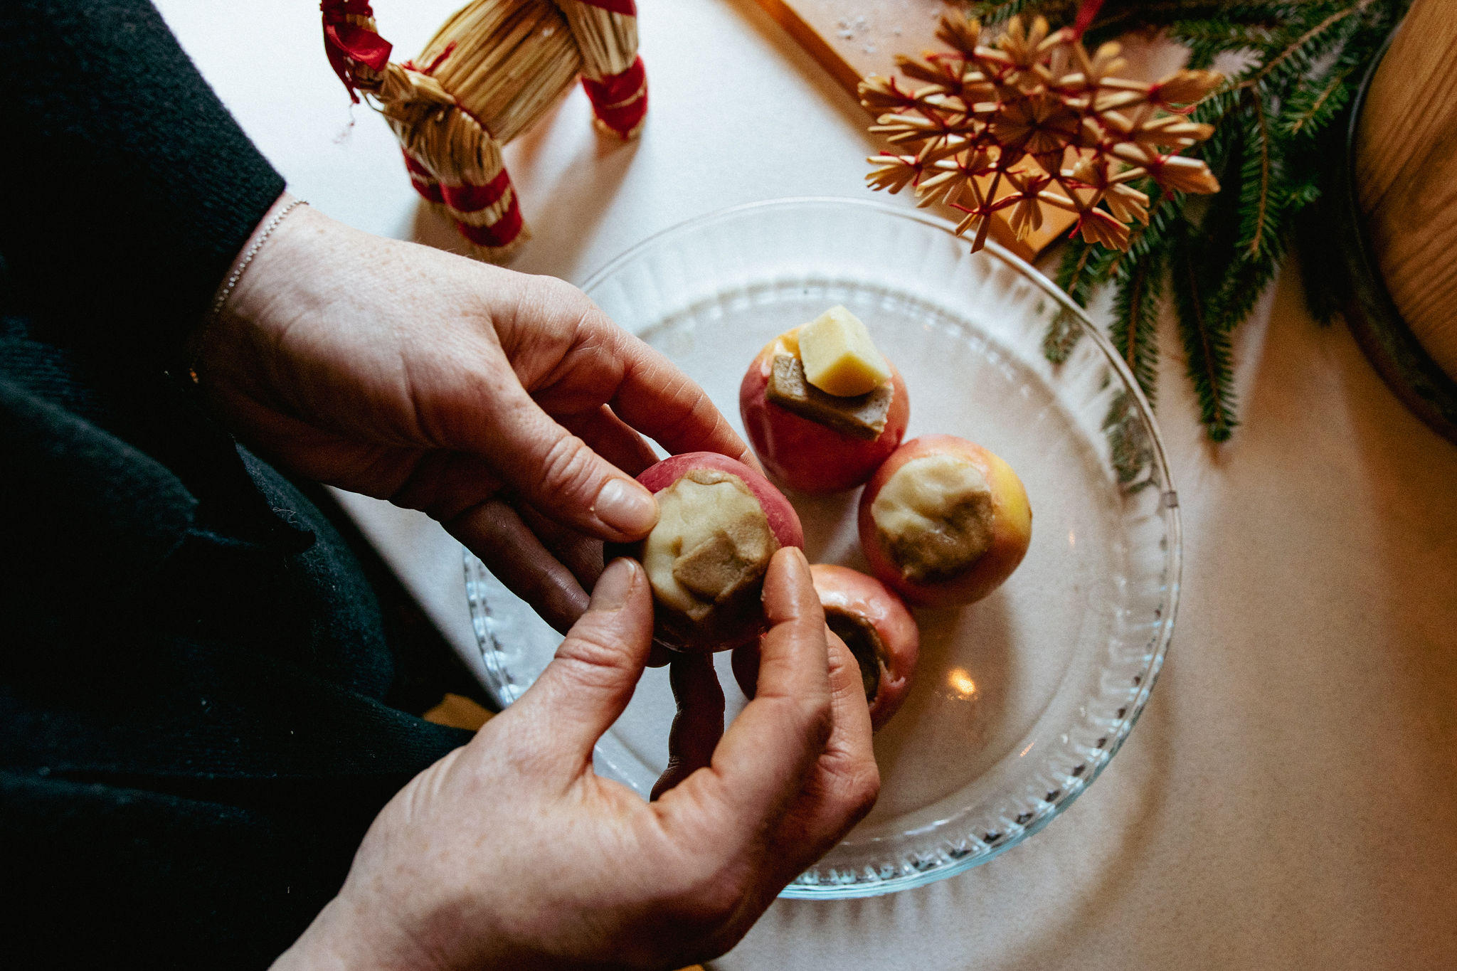
[[194, 352], [210, 403], [258, 454], [424, 510], [558, 630], [586, 609], [600, 542], [657, 521], [632, 479], [654, 461], [643, 435], [756, 464], [696, 384], [576, 287], [307, 205]]

